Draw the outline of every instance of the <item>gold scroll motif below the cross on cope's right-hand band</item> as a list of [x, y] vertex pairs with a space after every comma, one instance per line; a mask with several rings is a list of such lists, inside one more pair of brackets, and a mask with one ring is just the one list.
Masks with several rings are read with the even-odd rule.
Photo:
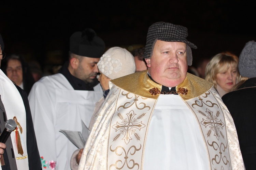
[[229, 160], [227, 159], [226, 156], [223, 156], [223, 155], [222, 155], [222, 153], [225, 152], [225, 150], [228, 148], [228, 147], [227, 147], [227, 144], [226, 144], [226, 146], [225, 146], [224, 143], [221, 143], [221, 146], [218, 146], [218, 143], [215, 142], [215, 141], [213, 141], [212, 144], [210, 144], [209, 141], [207, 141], [207, 142], [208, 142], [208, 145], [211, 146], [211, 147], [213, 147], [213, 149], [214, 149], [215, 151], [219, 151], [219, 152], [218, 152], [219, 155], [216, 154], [215, 157], [212, 158], [212, 164], [213, 164], [214, 162], [215, 162], [216, 164], [219, 164], [219, 163], [222, 161], [225, 165], [228, 164], [229, 167], [230, 167]]

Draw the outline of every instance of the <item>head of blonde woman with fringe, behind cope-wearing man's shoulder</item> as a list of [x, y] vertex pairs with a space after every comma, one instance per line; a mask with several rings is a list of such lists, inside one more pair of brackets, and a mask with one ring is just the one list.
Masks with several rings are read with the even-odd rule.
[[238, 57], [230, 53], [216, 54], [205, 68], [205, 80], [214, 83], [221, 97], [231, 91], [239, 76]]

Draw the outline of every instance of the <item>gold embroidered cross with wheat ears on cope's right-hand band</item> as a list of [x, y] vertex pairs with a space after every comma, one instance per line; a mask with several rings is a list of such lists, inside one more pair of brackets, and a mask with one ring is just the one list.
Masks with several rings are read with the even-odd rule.
[[213, 112], [211, 112], [208, 108], [205, 111], [207, 114], [204, 114], [202, 111], [198, 111], [198, 113], [200, 113], [201, 115], [203, 115], [206, 119], [203, 119], [201, 121], [201, 124], [205, 126], [205, 128], [210, 128], [207, 131], [207, 137], [211, 136], [212, 131], [214, 132], [214, 136], [219, 140], [219, 134], [221, 134], [221, 136], [223, 138], [224, 135], [221, 131], [221, 129], [223, 129], [224, 127], [224, 123], [222, 122], [222, 120], [218, 120], [218, 117], [221, 115], [219, 113], [219, 111], [217, 111], [215, 114], [213, 114]]

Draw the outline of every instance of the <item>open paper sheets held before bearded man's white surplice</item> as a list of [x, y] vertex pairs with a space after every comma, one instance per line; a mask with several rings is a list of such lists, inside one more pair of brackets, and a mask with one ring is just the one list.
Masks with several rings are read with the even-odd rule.
[[85, 146], [85, 142], [89, 136], [89, 129], [87, 128], [87, 126], [84, 124], [83, 120], [82, 120], [82, 133], [79, 131], [67, 131], [67, 130], [59, 130], [60, 132], [62, 132], [64, 135], [67, 136], [67, 138], [74, 143], [74, 145], [79, 148], [82, 149]]

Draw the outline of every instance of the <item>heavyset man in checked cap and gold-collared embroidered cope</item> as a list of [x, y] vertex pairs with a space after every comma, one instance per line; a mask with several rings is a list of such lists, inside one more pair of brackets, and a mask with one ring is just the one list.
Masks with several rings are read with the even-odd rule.
[[79, 169], [243, 169], [233, 120], [213, 84], [187, 73], [187, 28], [148, 29], [148, 70], [112, 80]]

